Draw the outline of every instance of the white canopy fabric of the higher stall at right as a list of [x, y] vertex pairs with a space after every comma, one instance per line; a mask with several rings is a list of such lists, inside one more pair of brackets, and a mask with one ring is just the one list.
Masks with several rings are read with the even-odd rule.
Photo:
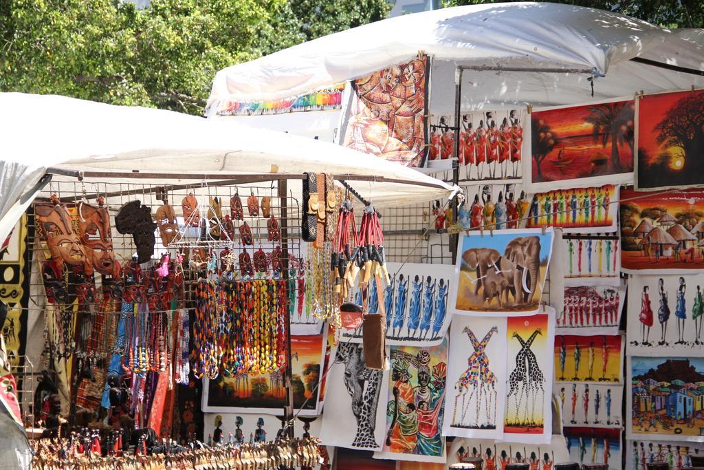
[[[593, 99], [704, 86], [704, 77], [636, 63], [704, 70], [696, 30], [680, 37], [629, 16], [565, 4], [443, 8], [370, 23], [220, 70], [208, 100], [280, 99], [363, 77], [424, 51], [433, 58], [432, 113], [454, 109], [455, 66], [583, 68]], [[465, 72], [463, 109], [591, 100], [588, 74]], [[213, 106], [215, 105], [215, 106]]]

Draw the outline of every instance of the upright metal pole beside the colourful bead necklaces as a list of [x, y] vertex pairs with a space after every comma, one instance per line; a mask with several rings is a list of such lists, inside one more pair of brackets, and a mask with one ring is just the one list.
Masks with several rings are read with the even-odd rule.
[[[282, 269], [281, 278], [284, 285], [288, 286], [289, 281], [289, 211], [288, 211], [288, 181], [279, 180], [277, 184], [279, 202], [281, 208], [279, 212], [279, 229], [281, 230], [281, 252], [282, 252]], [[286, 389], [286, 406], [284, 406], [284, 416], [286, 418], [287, 435], [290, 439], [294, 438], [294, 388], [292, 385], [293, 369], [291, 367], [291, 309], [289, 308], [288, 299], [284, 309], [284, 325], [286, 326], [286, 372], [284, 376], [284, 386]]]

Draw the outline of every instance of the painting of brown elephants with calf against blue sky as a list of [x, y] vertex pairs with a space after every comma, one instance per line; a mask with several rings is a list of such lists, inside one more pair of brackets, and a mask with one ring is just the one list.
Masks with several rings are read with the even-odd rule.
[[460, 237], [451, 306], [458, 314], [533, 314], [548, 273], [553, 230], [496, 230]]

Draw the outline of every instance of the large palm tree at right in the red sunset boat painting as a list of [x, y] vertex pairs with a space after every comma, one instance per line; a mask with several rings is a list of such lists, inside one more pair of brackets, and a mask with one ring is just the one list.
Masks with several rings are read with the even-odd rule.
[[589, 116], [584, 120], [591, 124], [594, 142], [600, 142], [603, 148], [611, 142], [611, 166], [620, 170], [621, 157], [619, 147], [628, 145], [633, 154], [634, 147], [634, 110], [630, 101], [599, 104], [589, 108]]

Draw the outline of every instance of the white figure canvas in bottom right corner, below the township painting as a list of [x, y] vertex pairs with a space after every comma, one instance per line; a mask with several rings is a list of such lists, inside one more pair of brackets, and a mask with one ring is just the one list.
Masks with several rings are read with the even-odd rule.
[[681, 443], [676, 440], [628, 440], [626, 469], [643, 470], [647, 464], [667, 462], [670, 470], [693, 466], [692, 457], [704, 457], [704, 443]]

